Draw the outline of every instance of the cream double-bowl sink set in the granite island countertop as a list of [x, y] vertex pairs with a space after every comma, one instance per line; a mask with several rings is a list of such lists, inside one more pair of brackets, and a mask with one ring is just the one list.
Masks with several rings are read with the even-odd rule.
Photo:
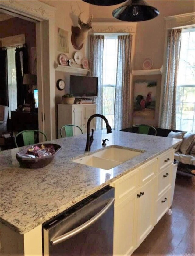
[[132, 159], [133, 157], [139, 156], [142, 153], [143, 152], [137, 152], [132, 149], [124, 149], [117, 146], [112, 146], [100, 150], [94, 154], [80, 157], [76, 160], [73, 160], [73, 162], [109, 170]]

